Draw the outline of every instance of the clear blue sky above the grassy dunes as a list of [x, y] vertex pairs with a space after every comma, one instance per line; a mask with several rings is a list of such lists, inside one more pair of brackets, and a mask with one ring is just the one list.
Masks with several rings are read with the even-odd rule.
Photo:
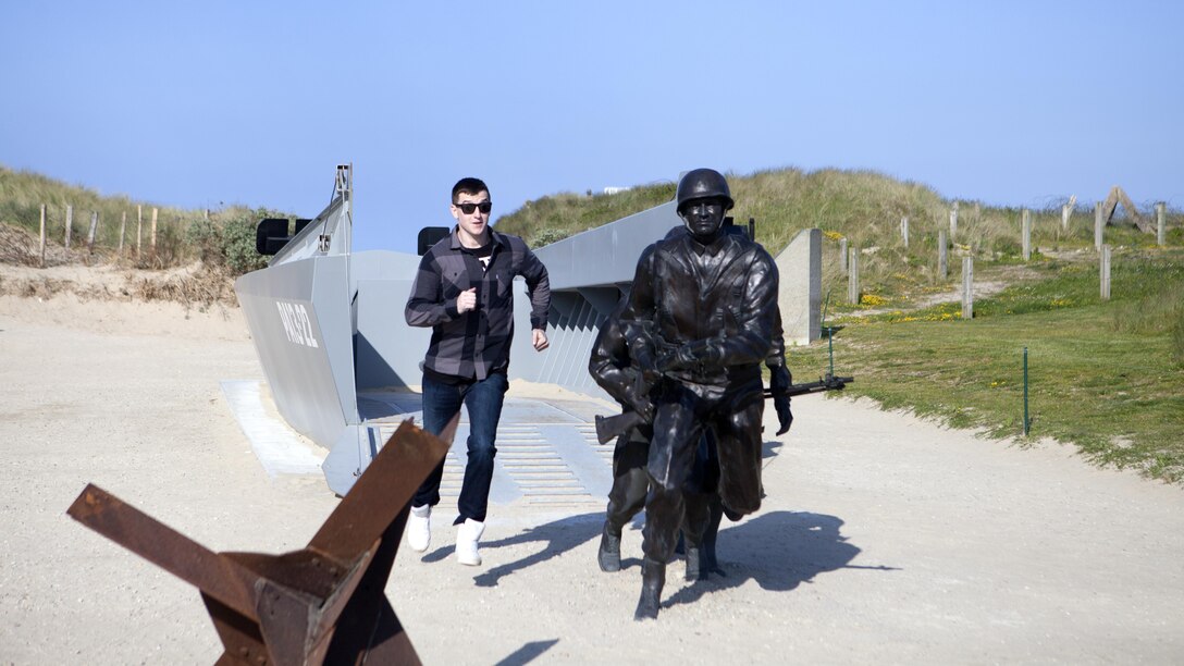
[[1184, 207], [1184, 4], [11, 2], [0, 164], [413, 251], [477, 175], [498, 213], [709, 166], [867, 168], [1045, 206]]

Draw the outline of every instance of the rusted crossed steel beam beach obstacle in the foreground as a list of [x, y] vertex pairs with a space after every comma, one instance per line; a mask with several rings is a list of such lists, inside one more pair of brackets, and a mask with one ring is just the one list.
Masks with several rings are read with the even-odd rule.
[[419, 664], [385, 588], [411, 497], [458, 421], [442, 437], [404, 422], [309, 545], [284, 555], [213, 552], [94, 485], [67, 513], [197, 587], [218, 664]]

